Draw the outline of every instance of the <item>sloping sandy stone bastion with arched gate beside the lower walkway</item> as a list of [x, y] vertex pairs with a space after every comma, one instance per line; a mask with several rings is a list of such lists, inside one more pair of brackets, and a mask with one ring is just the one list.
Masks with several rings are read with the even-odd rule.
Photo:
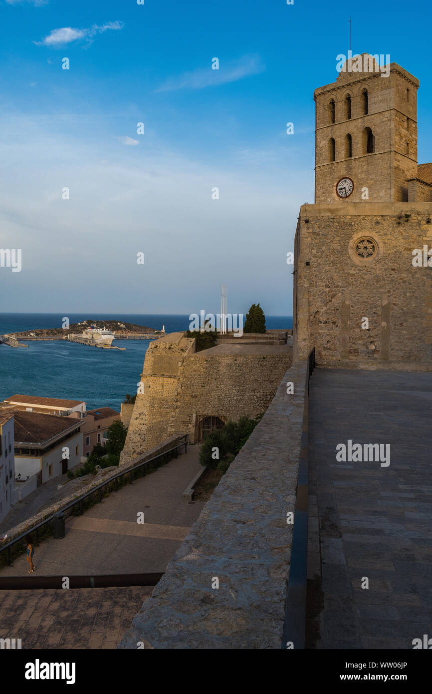
[[227, 422], [265, 412], [291, 364], [288, 350], [267, 349], [264, 354], [195, 353], [195, 340], [183, 333], [153, 342], [146, 353], [143, 392], [135, 401], [121, 464], [175, 434], [189, 434], [189, 440], [196, 442], [206, 416]]

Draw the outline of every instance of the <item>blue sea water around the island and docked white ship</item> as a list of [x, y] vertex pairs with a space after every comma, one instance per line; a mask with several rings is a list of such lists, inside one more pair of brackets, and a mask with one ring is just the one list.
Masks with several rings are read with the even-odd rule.
[[[0, 313], [0, 335], [33, 328], [58, 328], [60, 314]], [[148, 328], [176, 332], [189, 328], [189, 315], [68, 314], [71, 323], [87, 319], [119, 320]], [[270, 328], [292, 328], [292, 316], [266, 316]], [[0, 400], [15, 393], [85, 400], [87, 409], [112, 407], [120, 412], [126, 393], [134, 395], [149, 340], [114, 340], [126, 351], [102, 350], [74, 342], [31, 341], [28, 348], [0, 345]]]

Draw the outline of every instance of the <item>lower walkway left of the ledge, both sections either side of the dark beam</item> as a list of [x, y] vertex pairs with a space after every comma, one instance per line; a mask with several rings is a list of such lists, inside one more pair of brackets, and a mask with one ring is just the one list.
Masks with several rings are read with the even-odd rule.
[[[71, 518], [62, 540], [35, 548], [39, 575], [156, 573], [164, 571], [204, 502], [187, 502], [184, 489], [200, 470], [198, 446], [154, 473], [112, 493], [83, 516]], [[144, 512], [144, 525], [137, 513]], [[26, 575], [25, 557], [1, 575]], [[0, 638], [22, 648], [115, 648], [153, 588], [0, 591]]]

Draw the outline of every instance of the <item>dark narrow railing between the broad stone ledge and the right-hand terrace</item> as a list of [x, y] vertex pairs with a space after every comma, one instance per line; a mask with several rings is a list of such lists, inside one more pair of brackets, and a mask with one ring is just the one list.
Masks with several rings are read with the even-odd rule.
[[[297, 494], [294, 507], [291, 566], [281, 648], [301, 649], [306, 641], [307, 535], [309, 512], [309, 381], [315, 368], [315, 347], [307, 359]], [[291, 645], [292, 644], [292, 645]]]

